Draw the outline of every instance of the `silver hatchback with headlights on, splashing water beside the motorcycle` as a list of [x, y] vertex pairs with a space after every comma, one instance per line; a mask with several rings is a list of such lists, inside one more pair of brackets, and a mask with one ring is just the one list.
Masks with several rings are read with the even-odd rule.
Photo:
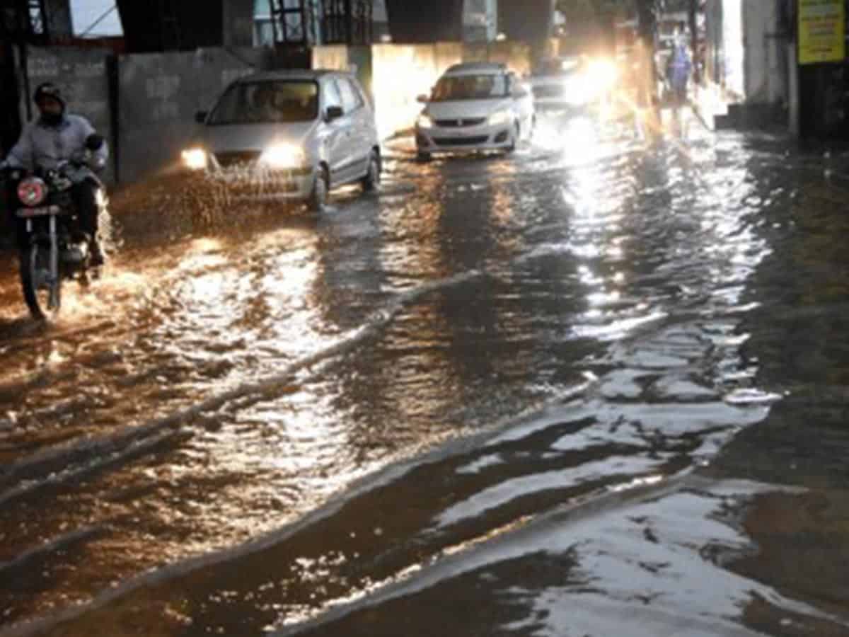
[[230, 84], [201, 111], [197, 144], [183, 166], [205, 171], [245, 196], [305, 201], [320, 210], [346, 183], [380, 183], [374, 110], [350, 73], [281, 70]]

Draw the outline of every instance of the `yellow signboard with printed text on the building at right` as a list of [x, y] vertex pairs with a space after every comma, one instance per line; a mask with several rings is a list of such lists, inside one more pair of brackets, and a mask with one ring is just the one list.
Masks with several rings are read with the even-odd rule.
[[799, 64], [846, 58], [844, 0], [799, 0]]

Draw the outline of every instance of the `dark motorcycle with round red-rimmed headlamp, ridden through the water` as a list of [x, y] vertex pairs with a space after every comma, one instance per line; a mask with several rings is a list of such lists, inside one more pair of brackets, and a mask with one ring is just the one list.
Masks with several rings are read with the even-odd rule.
[[[20, 283], [24, 301], [33, 318], [44, 319], [59, 313], [62, 304], [62, 284], [76, 280], [83, 288], [90, 283], [90, 274], [98, 276], [91, 266], [88, 250], [90, 237], [80, 228], [72, 189], [87, 179], [100, 186], [94, 172], [94, 158], [103, 138], [90, 136], [86, 149], [70, 161], [60, 161], [49, 170], [11, 169], [10, 189], [17, 199], [14, 216], [25, 229], [25, 245], [20, 252]], [[14, 199], [14, 197], [13, 197]], [[14, 205], [13, 201], [13, 205]], [[98, 204], [105, 206], [102, 197]]]

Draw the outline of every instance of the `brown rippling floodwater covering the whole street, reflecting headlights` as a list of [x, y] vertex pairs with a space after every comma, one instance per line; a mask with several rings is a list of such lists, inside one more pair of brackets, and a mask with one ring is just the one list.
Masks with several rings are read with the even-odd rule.
[[3, 262], [0, 635], [849, 635], [849, 160], [563, 139]]

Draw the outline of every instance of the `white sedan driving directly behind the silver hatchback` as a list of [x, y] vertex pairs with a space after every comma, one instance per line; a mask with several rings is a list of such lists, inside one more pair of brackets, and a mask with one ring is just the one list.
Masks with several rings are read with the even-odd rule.
[[436, 82], [416, 121], [419, 159], [434, 153], [516, 148], [530, 138], [536, 115], [531, 91], [505, 65], [454, 65]]

